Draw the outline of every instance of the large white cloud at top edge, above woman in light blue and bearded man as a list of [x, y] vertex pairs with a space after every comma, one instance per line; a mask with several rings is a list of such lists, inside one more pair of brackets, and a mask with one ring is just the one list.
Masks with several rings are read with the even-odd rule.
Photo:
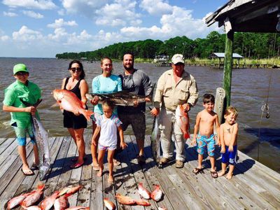
[[103, 8], [96, 10], [98, 15], [95, 23], [97, 25], [111, 25], [112, 27], [141, 24], [140, 14], [135, 12], [136, 1], [115, 0], [115, 3], [106, 4]]

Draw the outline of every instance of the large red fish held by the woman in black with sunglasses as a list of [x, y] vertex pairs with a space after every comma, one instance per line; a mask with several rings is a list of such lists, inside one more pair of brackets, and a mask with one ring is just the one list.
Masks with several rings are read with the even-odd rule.
[[90, 116], [93, 112], [85, 109], [85, 104], [78, 99], [76, 94], [69, 90], [53, 90], [52, 94], [62, 109], [72, 113], [80, 113], [90, 121]]

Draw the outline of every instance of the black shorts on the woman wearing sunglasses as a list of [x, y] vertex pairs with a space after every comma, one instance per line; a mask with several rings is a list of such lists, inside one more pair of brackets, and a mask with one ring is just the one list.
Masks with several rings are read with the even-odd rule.
[[74, 130], [87, 127], [87, 119], [83, 115], [75, 116], [70, 111], [64, 110], [63, 116], [64, 127], [73, 128]]

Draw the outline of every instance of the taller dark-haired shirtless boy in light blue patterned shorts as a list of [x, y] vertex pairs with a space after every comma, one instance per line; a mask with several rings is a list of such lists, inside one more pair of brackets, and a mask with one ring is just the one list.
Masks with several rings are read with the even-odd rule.
[[[214, 135], [214, 125], [216, 125], [217, 133], [220, 125], [218, 123], [218, 115], [213, 111], [215, 104], [215, 97], [212, 94], [204, 94], [203, 106], [204, 110], [197, 114], [195, 123], [195, 130], [193, 132], [192, 145], [197, 144], [198, 165], [193, 169], [193, 173], [198, 174], [202, 172], [202, 160], [204, 150], [207, 147], [207, 152], [211, 162], [211, 176], [217, 178], [218, 174], [215, 169], [215, 144], [216, 138]], [[199, 132], [199, 133], [198, 133]], [[198, 134], [197, 134], [198, 133]], [[218, 143], [219, 144], [219, 143]]]

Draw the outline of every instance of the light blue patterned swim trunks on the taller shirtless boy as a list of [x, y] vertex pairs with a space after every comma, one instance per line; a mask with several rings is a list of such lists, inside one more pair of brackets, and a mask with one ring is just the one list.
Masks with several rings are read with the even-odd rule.
[[215, 135], [211, 134], [208, 138], [207, 136], [201, 136], [197, 134], [197, 153], [200, 155], [204, 154], [204, 149], [207, 146], [208, 155], [213, 157], [215, 151]]

